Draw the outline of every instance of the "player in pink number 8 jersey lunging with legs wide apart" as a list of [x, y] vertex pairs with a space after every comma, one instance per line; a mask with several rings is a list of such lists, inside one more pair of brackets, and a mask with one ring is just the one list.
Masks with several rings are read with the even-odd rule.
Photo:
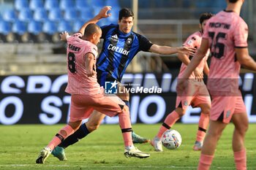
[[[105, 16], [108, 17], [107, 10]], [[96, 58], [97, 44], [102, 30], [95, 23], [87, 23], [79, 32], [67, 38], [68, 84], [66, 92], [71, 94], [69, 123], [61, 128], [47, 145], [39, 152], [36, 163], [45, 163], [52, 150], [67, 136], [76, 131], [83, 119], [88, 118], [93, 110], [113, 117], [118, 115], [119, 125], [124, 139], [126, 157], [148, 158], [150, 155], [141, 152], [132, 143], [132, 125], [129, 109], [118, 96], [106, 96], [104, 89], [97, 82]]]

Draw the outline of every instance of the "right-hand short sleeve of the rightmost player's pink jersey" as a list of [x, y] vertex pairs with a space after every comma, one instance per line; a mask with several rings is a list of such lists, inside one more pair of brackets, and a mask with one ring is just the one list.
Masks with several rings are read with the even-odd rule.
[[248, 26], [244, 20], [239, 20], [234, 31], [235, 47], [247, 47]]

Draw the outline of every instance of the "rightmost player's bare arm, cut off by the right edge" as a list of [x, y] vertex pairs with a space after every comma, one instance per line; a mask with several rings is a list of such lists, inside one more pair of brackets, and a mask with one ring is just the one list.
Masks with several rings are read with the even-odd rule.
[[249, 55], [248, 48], [236, 48], [236, 57], [244, 68], [256, 71], [256, 63]]

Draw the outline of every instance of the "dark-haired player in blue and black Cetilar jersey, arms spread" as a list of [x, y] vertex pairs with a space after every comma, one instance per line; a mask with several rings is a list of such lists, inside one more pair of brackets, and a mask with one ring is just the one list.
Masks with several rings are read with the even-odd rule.
[[[97, 23], [102, 18], [107, 18], [110, 16], [108, 11], [111, 7], [103, 7], [102, 10], [94, 18], [89, 20], [83, 25], [89, 23]], [[168, 47], [152, 44], [145, 36], [137, 34], [132, 31], [134, 15], [130, 9], [124, 8], [119, 11], [118, 24], [110, 24], [109, 26], [102, 26], [102, 39], [104, 39], [102, 52], [97, 58], [97, 80], [99, 85], [105, 87], [106, 81], [116, 81], [121, 89], [124, 89], [121, 85], [121, 78], [124, 75], [127, 66], [132, 61], [132, 58], [139, 51], [146, 51], [159, 54], [173, 54], [173, 53], [184, 53], [191, 55], [195, 52], [195, 49], [189, 47]], [[61, 39], [65, 40], [68, 36], [67, 33], [61, 34]], [[119, 89], [119, 88], [118, 88]], [[121, 95], [117, 94], [129, 107], [129, 93]], [[64, 140], [59, 147], [53, 150], [53, 155], [59, 158], [60, 161], [66, 160], [64, 155], [64, 148], [68, 147], [70, 144], [78, 142], [92, 131], [99, 127], [105, 115], [94, 112], [89, 117], [89, 120], [80, 126], [78, 131], [69, 136]], [[148, 139], [144, 139], [135, 133], [132, 133], [132, 139], [134, 143], [144, 143], [148, 142]]]

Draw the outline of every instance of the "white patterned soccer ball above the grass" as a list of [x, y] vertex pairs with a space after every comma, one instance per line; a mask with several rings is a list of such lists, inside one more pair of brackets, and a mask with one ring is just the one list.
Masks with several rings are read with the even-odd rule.
[[181, 146], [181, 134], [176, 130], [167, 130], [162, 134], [162, 145], [168, 150], [175, 150]]

